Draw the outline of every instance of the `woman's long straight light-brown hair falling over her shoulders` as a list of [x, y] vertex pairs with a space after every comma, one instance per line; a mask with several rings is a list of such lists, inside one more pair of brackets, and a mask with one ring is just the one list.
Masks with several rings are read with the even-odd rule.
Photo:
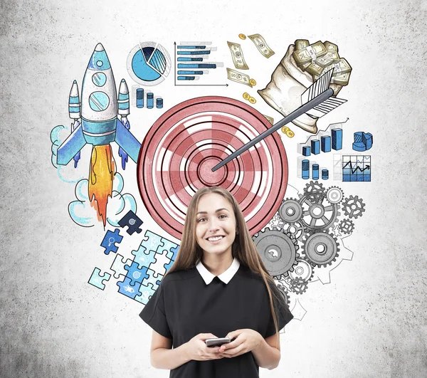
[[176, 255], [175, 262], [167, 274], [172, 273], [174, 271], [184, 271], [187, 269], [194, 268], [199, 260], [203, 256], [203, 251], [197, 243], [196, 238], [196, 213], [197, 207], [199, 206], [199, 199], [204, 194], [215, 193], [220, 194], [225, 197], [233, 206], [234, 216], [236, 217], [236, 230], [238, 230], [238, 234], [236, 234], [236, 238], [233, 241], [231, 246], [231, 253], [233, 258], [236, 257], [240, 263], [248, 266], [254, 273], [258, 273], [264, 280], [265, 287], [268, 290], [268, 297], [270, 299], [270, 310], [273, 314], [273, 320], [277, 335], [276, 342], [279, 342], [278, 335], [278, 321], [276, 319], [276, 311], [275, 305], [273, 302], [274, 299], [277, 300], [280, 306], [288, 306], [285, 303], [283, 296], [280, 293], [280, 290], [274, 283], [273, 277], [268, 273], [267, 269], [264, 266], [263, 261], [260, 258], [260, 254], [258, 253], [255, 243], [253, 243], [251, 234], [248, 231], [248, 227], [246, 226], [245, 218], [241, 211], [238, 202], [233, 197], [233, 195], [226, 189], [221, 187], [202, 187], [191, 198], [189, 203], [186, 219], [184, 223], [184, 231], [182, 233], [181, 244], [179, 245], [179, 251]]

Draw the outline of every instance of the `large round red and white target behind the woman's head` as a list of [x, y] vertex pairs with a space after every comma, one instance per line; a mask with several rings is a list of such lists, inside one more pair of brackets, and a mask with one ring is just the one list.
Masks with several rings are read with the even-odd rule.
[[232, 98], [194, 98], [165, 112], [144, 138], [137, 164], [139, 193], [154, 221], [181, 239], [191, 197], [201, 187], [218, 186], [236, 198], [251, 235], [263, 229], [288, 184], [279, 135], [212, 168], [270, 126], [260, 112]]

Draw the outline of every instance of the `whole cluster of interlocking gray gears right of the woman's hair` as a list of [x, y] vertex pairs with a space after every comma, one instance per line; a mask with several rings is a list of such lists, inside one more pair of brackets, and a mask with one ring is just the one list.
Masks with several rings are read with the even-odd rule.
[[[305, 293], [310, 282], [329, 283], [330, 271], [342, 260], [352, 259], [342, 238], [354, 232], [352, 219], [365, 211], [359, 196], [344, 198], [344, 191], [337, 186], [324, 187], [311, 181], [299, 193], [293, 189], [265, 229], [253, 236], [265, 268], [286, 303], [297, 301], [294, 294]], [[347, 217], [341, 219], [344, 213]]]

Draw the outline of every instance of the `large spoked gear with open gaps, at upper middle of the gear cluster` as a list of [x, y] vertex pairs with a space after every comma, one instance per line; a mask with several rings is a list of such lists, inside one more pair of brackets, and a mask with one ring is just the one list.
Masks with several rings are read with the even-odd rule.
[[337, 221], [337, 217], [341, 215], [338, 211], [338, 204], [330, 204], [325, 201], [326, 196], [318, 194], [300, 194], [300, 204], [302, 206], [303, 215], [300, 220], [303, 226], [306, 227], [307, 233], [316, 233], [326, 229], [330, 229]]

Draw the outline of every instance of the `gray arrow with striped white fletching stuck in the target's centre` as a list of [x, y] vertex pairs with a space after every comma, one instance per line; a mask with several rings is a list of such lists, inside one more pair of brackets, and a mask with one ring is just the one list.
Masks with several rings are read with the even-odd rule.
[[268, 135], [273, 134], [273, 132], [279, 130], [280, 127], [283, 127], [289, 122], [295, 120], [295, 118], [300, 117], [300, 115], [306, 113], [307, 115], [322, 117], [331, 110], [334, 110], [339, 105], [347, 102], [347, 100], [342, 100], [341, 98], [331, 98], [331, 96], [334, 94], [334, 90], [332, 90], [332, 88], [329, 88], [329, 86], [333, 71], [334, 68], [332, 68], [332, 70], [327, 71], [327, 73], [320, 76], [320, 78], [317, 79], [315, 83], [312, 83], [312, 85], [310, 85], [310, 87], [308, 87], [307, 90], [302, 93], [302, 105], [300, 107], [298, 107], [296, 110], [291, 112], [290, 115], [287, 115], [285, 118], [270, 127], [268, 130], [265, 130], [265, 132], [258, 135], [258, 137], [255, 137], [253, 140], [246, 143], [246, 145], [243, 145], [236, 152], [233, 152], [231, 155], [226, 157], [226, 159], [223, 159], [221, 162], [216, 164], [216, 166], [212, 168], [212, 172], [215, 172], [216, 169], [219, 169], [228, 162], [231, 162], [231, 160], [235, 159], [236, 157], [238, 157], [238, 155], [245, 152], [246, 149], [250, 149], [253, 145], [256, 145], [265, 137], [268, 137]]

